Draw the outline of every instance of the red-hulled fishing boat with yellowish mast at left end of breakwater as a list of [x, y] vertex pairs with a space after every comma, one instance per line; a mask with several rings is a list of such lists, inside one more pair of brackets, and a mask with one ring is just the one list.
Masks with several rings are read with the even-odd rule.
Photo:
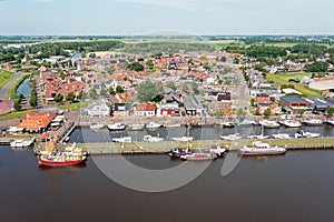
[[67, 165], [78, 165], [86, 161], [87, 157], [82, 149], [76, 148], [71, 150], [61, 151], [60, 148], [56, 145], [57, 138], [55, 137], [47, 145], [43, 151], [41, 151], [38, 157], [39, 165], [47, 167], [67, 167]]

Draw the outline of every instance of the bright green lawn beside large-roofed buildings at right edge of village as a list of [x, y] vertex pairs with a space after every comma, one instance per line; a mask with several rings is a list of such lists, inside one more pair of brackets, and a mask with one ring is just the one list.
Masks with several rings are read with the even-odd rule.
[[304, 85], [302, 83], [293, 83], [288, 82], [289, 79], [298, 78], [302, 80], [304, 77], [311, 77], [312, 73], [306, 72], [298, 72], [298, 73], [282, 73], [282, 74], [266, 74], [266, 79], [268, 81], [273, 81], [276, 85], [281, 87], [282, 84], [293, 84], [295, 87], [295, 90], [302, 92], [306, 97], [314, 97], [314, 98], [321, 98], [321, 92], [316, 90], [308, 89], [307, 85]]

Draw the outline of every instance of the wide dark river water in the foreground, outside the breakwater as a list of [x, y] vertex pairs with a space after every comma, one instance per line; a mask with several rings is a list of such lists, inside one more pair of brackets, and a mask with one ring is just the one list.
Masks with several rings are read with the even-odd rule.
[[[167, 155], [127, 159], [149, 169], [179, 163]], [[244, 158], [225, 178], [223, 162], [180, 189], [141, 193], [107, 179], [90, 159], [86, 167], [41, 169], [31, 151], [0, 147], [1, 221], [333, 221], [334, 151]]]

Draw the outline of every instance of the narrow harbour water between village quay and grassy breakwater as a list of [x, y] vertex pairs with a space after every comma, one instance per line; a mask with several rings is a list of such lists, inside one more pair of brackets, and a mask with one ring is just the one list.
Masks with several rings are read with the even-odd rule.
[[[323, 124], [322, 127], [305, 127], [303, 125], [301, 128], [305, 132], [318, 132], [323, 137], [334, 137], [334, 128], [328, 124]], [[289, 133], [292, 137], [298, 131], [297, 128], [285, 128], [281, 127], [279, 129], [265, 129], [264, 134], [271, 135], [274, 133]], [[193, 128], [190, 130], [190, 137], [195, 137], [196, 140], [203, 139], [203, 140], [219, 140], [219, 137], [222, 134], [227, 135], [232, 133], [239, 133], [244, 138], [247, 138], [249, 134], [261, 134], [261, 128], [259, 127], [253, 127], [253, 128], [222, 128], [222, 127], [215, 127], [215, 128]], [[111, 142], [112, 138], [119, 138], [125, 135], [131, 135], [132, 141], [143, 141], [143, 137], [145, 134], [150, 134], [155, 137], [161, 137], [165, 138], [167, 141], [170, 140], [170, 138], [175, 137], [183, 137], [186, 135], [186, 128], [159, 128], [155, 130], [141, 130], [141, 131], [120, 131], [120, 132], [112, 132], [109, 131], [107, 128], [101, 130], [90, 130], [89, 128], [79, 128], [76, 129], [71, 137], [69, 142]]]

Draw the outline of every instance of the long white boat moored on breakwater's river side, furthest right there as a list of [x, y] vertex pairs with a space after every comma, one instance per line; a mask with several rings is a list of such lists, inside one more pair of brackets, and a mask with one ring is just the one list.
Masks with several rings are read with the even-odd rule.
[[243, 155], [276, 155], [284, 154], [286, 152], [285, 148], [271, 147], [268, 143], [263, 143], [262, 141], [256, 141], [252, 143], [253, 147], [244, 147], [239, 151]]

